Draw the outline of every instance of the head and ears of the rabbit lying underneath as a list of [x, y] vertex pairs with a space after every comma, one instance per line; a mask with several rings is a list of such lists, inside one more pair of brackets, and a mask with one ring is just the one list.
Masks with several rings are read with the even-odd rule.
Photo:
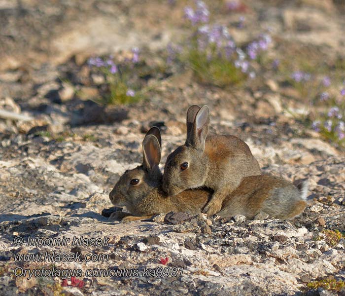
[[162, 183], [162, 173], [158, 167], [161, 145], [159, 128], [154, 126], [142, 141], [142, 165], [126, 171], [109, 193], [110, 201], [115, 206], [125, 206], [131, 211], [138, 201]]

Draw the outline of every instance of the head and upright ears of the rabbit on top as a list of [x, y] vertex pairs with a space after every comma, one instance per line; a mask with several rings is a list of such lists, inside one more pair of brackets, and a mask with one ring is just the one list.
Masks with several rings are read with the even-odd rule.
[[186, 143], [167, 158], [163, 175], [163, 190], [174, 196], [188, 188], [205, 183], [208, 159], [204, 156], [208, 132], [209, 110], [193, 105], [187, 111]]

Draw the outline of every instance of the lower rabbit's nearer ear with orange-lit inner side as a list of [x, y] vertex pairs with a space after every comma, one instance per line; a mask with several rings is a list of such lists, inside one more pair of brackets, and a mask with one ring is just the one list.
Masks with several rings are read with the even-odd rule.
[[158, 168], [161, 161], [161, 147], [154, 135], [146, 135], [142, 141], [143, 159], [142, 165], [147, 171]]

